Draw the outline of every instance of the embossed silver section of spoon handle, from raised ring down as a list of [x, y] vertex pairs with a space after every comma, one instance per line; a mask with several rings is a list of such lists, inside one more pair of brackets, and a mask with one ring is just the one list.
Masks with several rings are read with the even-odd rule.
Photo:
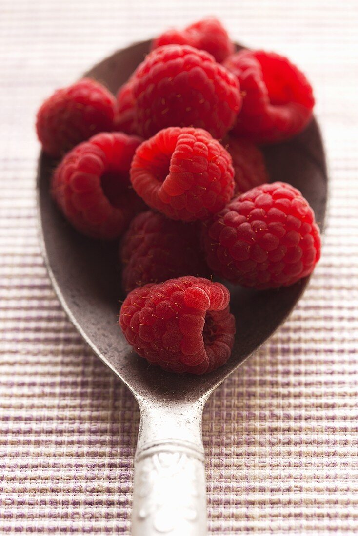
[[133, 536], [206, 534], [203, 455], [179, 443], [138, 453], [132, 524]]

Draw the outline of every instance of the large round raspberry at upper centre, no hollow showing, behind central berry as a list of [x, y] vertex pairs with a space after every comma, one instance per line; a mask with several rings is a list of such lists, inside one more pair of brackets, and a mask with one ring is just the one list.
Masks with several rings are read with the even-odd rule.
[[233, 125], [241, 100], [236, 77], [210, 54], [167, 45], [152, 50], [121, 88], [118, 105], [125, 117], [120, 113], [118, 121], [133, 114], [133, 128], [143, 138], [167, 126], [195, 126], [221, 138]]

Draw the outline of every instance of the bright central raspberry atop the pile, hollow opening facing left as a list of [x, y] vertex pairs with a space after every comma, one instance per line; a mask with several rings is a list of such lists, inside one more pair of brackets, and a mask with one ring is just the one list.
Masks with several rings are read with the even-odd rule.
[[152, 209], [184, 221], [221, 210], [234, 189], [231, 157], [224, 147], [205, 130], [178, 126], [138, 147], [130, 180]]

